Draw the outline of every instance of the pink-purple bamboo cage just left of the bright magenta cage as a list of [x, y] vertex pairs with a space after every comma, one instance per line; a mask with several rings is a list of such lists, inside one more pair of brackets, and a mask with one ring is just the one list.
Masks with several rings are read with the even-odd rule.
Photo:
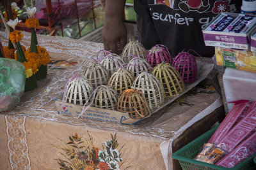
[[166, 46], [155, 45], [148, 51], [147, 61], [154, 67], [162, 62], [172, 63], [172, 56]]

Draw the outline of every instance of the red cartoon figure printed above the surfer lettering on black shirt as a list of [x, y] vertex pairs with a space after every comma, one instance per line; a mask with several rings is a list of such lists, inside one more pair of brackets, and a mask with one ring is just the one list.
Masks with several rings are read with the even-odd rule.
[[182, 0], [179, 3], [180, 10], [188, 13], [189, 11], [205, 12], [210, 8], [209, 0]]

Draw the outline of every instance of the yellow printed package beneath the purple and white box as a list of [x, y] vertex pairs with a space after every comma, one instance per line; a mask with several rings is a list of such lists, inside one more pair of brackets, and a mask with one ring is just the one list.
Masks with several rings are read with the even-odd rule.
[[256, 52], [215, 47], [216, 64], [256, 73]]

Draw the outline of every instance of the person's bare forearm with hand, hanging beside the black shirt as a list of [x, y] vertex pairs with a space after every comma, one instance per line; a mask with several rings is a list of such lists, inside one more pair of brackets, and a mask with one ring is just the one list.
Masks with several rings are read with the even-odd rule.
[[117, 44], [120, 43], [120, 50], [123, 50], [127, 42], [127, 31], [124, 25], [124, 6], [125, 0], [106, 0], [102, 38], [104, 49], [111, 50], [112, 53], [120, 53]]

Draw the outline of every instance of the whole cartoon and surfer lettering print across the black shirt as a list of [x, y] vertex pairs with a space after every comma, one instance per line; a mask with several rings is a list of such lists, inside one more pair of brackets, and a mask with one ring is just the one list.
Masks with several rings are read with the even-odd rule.
[[[236, 12], [236, 4], [232, 0], [148, 0], [150, 11], [153, 20], [159, 20], [166, 24], [173, 23], [177, 25], [190, 25], [192, 23], [199, 23], [204, 29], [209, 22], [211, 22], [214, 15], [222, 12]], [[166, 10], [157, 10], [154, 5], [163, 5], [170, 8]], [[174, 6], [174, 7], [173, 7]], [[155, 10], [156, 9], [156, 10]], [[160, 8], [159, 8], [160, 9]], [[172, 10], [171, 10], [172, 9]], [[177, 11], [173, 13], [172, 11]], [[182, 11], [182, 12], [179, 12]], [[192, 13], [198, 13], [198, 17]], [[204, 13], [209, 13], [204, 15]], [[214, 15], [213, 15], [214, 14]], [[202, 16], [202, 17], [200, 17]]]

